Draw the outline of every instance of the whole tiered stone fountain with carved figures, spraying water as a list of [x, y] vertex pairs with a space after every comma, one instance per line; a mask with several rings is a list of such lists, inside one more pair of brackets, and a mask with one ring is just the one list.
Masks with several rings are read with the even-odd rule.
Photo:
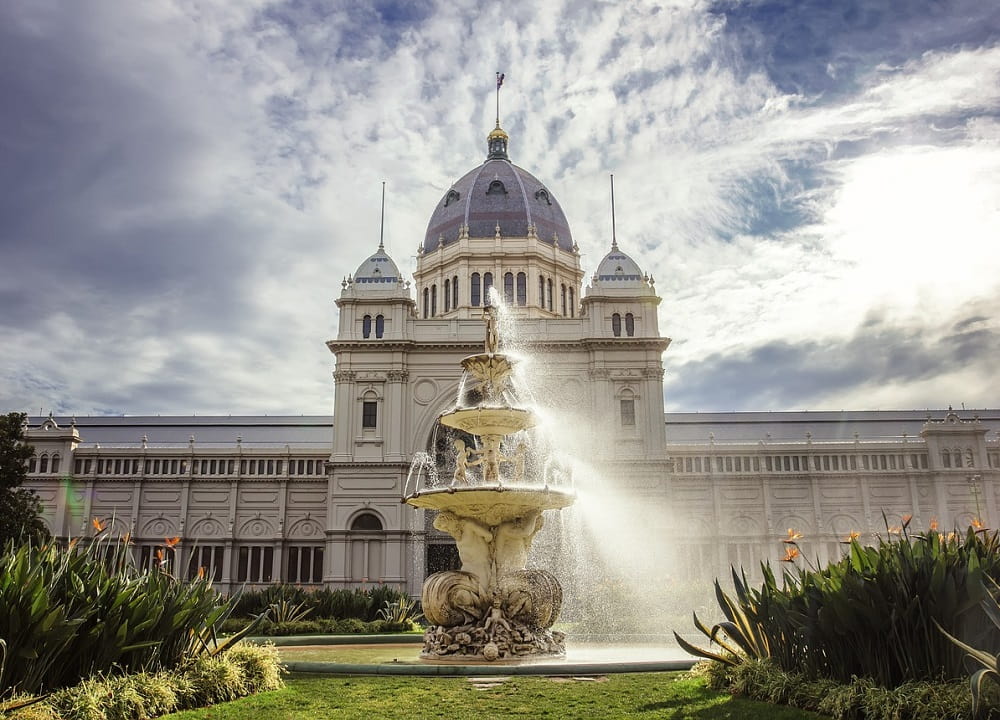
[[[480, 402], [439, 418], [477, 438], [477, 447], [454, 441], [455, 474], [447, 487], [418, 489], [404, 498], [438, 511], [434, 527], [455, 538], [461, 570], [424, 582], [425, 659], [519, 660], [565, 654], [559, 617], [562, 587], [547, 570], [527, 569], [528, 551], [542, 528], [542, 513], [572, 504], [572, 492], [525, 477], [526, 446], [511, 435], [531, 428], [531, 411], [506, 403], [511, 358], [497, 352], [496, 317], [484, 312], [485, 352], [462, 360]], [[512, 451], [511, 451], [512, 450]]]

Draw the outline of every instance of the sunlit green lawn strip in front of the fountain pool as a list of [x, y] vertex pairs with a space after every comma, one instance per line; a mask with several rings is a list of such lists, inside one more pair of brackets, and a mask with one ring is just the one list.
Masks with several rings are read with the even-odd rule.
[[[498, 676], [500, 677], [500, 676]], [[683, 673], [596, 678], [408, 678], [297, 674], [286, 687], [170, 720], [669, 718], [804, 720], [813, 713], [734, 698]]]

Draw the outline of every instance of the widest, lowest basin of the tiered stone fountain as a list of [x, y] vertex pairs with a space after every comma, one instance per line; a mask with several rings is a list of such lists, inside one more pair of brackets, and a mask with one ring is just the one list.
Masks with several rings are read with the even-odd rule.
[[549, 487], [459, 487], [416, 492], [405, 501], [425, 510], [446, 510], [486, 526], [509, 522], [532, 511], [559, 510], [573, 504], [576, 493]]

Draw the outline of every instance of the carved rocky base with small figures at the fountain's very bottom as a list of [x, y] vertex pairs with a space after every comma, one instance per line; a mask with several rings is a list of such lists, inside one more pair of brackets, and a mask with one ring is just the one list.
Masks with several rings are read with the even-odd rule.
[[[487, 623], [492, 623], [487, 627]], [[427, 660], [511, 661], [566, 654], [565, 636], [558, 630], [531, 628], [492, 615], [468, 625], [435, 625], [424, 632]]]

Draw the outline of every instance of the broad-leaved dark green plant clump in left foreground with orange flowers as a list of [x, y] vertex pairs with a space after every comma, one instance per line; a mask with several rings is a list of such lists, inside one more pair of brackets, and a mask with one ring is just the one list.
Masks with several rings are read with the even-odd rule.
[[231, 603], [211, 582], [139, 571], [127, 543], [106, 536], [67, 549], [8, 545], [0, 553], [0, 607], [7, 657], [0, 697], [112, 670], [175, 667], [230, 643], [215, 642]]

